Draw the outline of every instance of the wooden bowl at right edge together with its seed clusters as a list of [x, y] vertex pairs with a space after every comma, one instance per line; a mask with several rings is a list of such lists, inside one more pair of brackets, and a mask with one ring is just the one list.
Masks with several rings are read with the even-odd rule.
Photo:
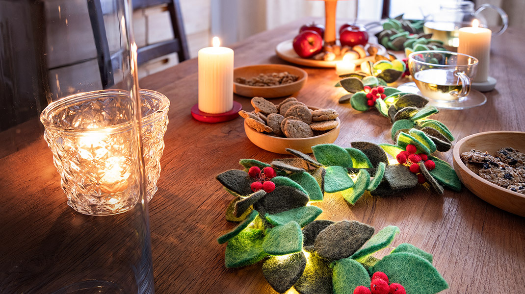
[[[521, 151], [520, 151], [521, 150]], [[454, 169], [479, 198], [525, 216], [525, 132], [467, 136], [454, 146]]]

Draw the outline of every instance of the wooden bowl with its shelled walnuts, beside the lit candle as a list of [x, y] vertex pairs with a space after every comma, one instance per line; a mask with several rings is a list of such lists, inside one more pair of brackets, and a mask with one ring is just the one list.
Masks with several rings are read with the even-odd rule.
[[246, 97], [277, 98], [299, 92], [306, 71], [286, 64], [258, 64], [233, 70], [233, 92]]

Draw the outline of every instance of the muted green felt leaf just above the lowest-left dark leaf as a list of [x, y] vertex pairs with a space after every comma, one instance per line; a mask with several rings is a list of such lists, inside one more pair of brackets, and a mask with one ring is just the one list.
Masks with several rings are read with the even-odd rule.
[[270, 229], [262, 242], [262, 249], [270, 255], [286, 255], [302, 251], [302, 231], [296, 222]]

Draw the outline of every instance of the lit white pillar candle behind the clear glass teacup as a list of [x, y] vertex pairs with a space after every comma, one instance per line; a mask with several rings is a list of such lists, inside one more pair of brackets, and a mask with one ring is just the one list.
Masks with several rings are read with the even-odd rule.
[[492, 31], [481, 28], [479, 21], [472, 21], [472, 27], [459, 29], [458, 53], [465, 53], [478, 59], [478, 69], [473, 82], [486, 82], [489, 75], [490, 63], [490, 38]]

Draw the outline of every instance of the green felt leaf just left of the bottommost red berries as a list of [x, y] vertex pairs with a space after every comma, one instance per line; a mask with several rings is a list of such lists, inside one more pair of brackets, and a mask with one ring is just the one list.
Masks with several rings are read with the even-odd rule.
[[352, 258], [336, 260], [333, 267], [333, 293], [353, 294], [355, 287], [370, 287], [370, 276], [366, 269]]

